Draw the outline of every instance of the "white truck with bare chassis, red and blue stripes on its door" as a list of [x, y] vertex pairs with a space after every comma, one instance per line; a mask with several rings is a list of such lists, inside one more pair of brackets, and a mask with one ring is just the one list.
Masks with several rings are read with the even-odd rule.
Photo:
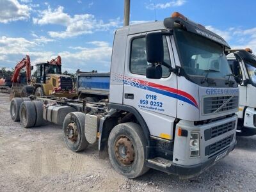
[[125, 177], [149, 168], [194, 177], [236, 146], [239, 88], [225, 49], [223, 38], [177, 12], [126, 26], [115, 32], [108, 104], [18, 98], [11, 116], [24, 127], [43, 117], [62, 125], [74, 152], [98, 142], [100, 157]]

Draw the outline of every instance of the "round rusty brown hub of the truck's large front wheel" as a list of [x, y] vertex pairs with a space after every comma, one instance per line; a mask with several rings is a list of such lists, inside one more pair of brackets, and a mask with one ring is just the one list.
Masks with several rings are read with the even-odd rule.
[[127, 137], [122, 137], [115, 144], [115, 155], [120, 163], [129, 166], [134, 161], [134, 147], [131, 140]]

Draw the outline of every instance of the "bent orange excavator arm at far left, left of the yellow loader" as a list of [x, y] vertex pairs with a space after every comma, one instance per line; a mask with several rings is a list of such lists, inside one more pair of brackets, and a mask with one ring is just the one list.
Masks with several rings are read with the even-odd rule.
[[26, 68], [26, 79], [27, 79], [27, 82], [30, 81], [30, 79], [31, 79], [31, 64], [30, 64], [29, 56], [26, 55], [26, 58], [23, 58], [15, 66], [15, 69], [14, 69], [14, 72], [13, 72], [13, 76], [12, 76], [12, 83], [18, 83], [18, 77], [19, 77], [20, 70], [22, 68], [24, 68], [24, 67]]

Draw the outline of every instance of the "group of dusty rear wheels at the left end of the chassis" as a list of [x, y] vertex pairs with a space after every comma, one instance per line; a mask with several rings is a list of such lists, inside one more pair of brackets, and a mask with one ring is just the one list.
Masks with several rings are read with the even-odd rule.
[[10, 106], [12, 120], [25, 127], [40, 126], [43, 124], [43, 103], [29, 98], [13, 98]]

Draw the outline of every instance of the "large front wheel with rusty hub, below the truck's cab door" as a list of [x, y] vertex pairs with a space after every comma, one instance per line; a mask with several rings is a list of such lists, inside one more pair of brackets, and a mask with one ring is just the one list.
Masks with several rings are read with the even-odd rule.
[[116, 172], [129, 179], [146, 173], [149, 170], [145, 166], [146, 145], [147, 140], [140, 125], [131, 122], [116, 125], [108, 138], [109, 159]]

